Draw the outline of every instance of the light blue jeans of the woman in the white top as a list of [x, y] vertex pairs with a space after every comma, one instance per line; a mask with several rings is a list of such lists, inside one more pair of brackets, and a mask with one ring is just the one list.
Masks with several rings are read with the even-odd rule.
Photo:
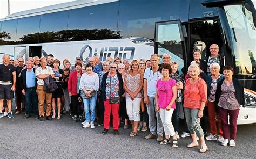
[[[84, 102], [84, 114], [85, 122], [94, 122], [95, 121], [95, 106], [96, 106], [97, 95], [93, 96], [91, 99], [83, 98]], [[91, 111], [91, 118], [90, 118]]]

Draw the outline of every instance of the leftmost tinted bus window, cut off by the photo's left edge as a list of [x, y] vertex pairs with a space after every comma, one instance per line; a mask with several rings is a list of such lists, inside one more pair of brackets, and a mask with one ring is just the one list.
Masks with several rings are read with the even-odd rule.
[[2, 40], [0, 45], [15, 44], [17, 19], [2, 21]]

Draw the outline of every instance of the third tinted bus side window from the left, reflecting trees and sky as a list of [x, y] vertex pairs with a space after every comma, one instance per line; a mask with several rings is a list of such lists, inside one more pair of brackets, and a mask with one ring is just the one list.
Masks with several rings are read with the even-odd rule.
[[62, 32], [68, 25], [68, 12], [61, 11], [41, 15], [39, 42], [66, 41]]

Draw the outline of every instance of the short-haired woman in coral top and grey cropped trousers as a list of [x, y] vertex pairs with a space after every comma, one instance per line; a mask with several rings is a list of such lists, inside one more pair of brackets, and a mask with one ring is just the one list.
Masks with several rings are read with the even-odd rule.
[[196, 64], [188, 67], [188, 74], [191, 78], [187, 79], [184, 91], [184, 112], [186, 122], [193, 142], [188, 144], [188, 148], [199, 147], [197, 136], [201, 142], [200, 153], [205, 153], [208, 147], [205, 144], [204, 132], [200, 126], [200, 118], [203, 117], [205, 103], [207, 102], [207, 85], [205, 81], [198, 77], [200, 69]]

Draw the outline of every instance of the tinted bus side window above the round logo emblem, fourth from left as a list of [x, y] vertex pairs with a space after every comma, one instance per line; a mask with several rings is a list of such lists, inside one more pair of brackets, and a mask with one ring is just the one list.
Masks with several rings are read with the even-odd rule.
[[118, 2], [69, 11], [70, 40], [100, 40], [120, 38], [117, 31]]

